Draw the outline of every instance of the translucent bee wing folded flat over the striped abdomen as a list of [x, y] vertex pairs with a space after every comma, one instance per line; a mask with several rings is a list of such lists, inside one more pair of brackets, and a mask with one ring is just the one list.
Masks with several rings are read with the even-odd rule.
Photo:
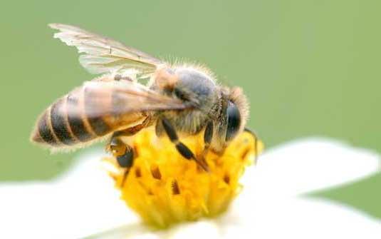
[[[82, 89], [85, 114], [90, 118], [192, 107], [133, 81], [87, 81]], [[69, 113], [75, 110], [81, 97], [79, 93], [69, 96], [66, 106]]]

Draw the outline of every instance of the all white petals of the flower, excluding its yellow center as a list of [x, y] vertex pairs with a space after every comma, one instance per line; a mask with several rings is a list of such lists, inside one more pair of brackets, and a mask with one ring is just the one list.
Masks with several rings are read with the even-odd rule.
[[270, 149], [249, 167], [224, 215], [152, 231], [140, 224], [99, 167], [100, 151], [51, 182], [0, 184], [0, 238], [380, 238], [381, 222], [303, 194], [380, 171], [380, 157], [307, 139]]

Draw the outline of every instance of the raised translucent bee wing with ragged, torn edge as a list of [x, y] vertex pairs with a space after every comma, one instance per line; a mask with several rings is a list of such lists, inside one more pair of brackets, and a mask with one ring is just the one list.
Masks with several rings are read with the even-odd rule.
[[75, 46], [81, 54], [80, 64], [90, 73], [115, 72], [137, 74], [142, 78], [155, 72], [157, 66], [165, 64], [142, 51], [125, 46], [105, 36], [93, 34], [77, 26], [49, 24], [59, 32], [54, 38], [68, 46]]

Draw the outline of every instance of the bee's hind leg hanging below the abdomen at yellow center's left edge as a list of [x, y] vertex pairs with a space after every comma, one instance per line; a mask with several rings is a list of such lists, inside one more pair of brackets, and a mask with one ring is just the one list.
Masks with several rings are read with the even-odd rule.
[[118, 161], [119, 166], [121, 168], [125, 168], [125, 173], [123, 174], [122, 182], [120, 185], [122, 187], [125, 184], [125, 179], [130, 172], [132, 164], [134, 163], [134, 151], [130, 146], [122, 142], [118, 136], [120, 136], [120, 133], [118, 132], [113, 134], [108, 145], [108, 151], [113, 153], [113, 156]]

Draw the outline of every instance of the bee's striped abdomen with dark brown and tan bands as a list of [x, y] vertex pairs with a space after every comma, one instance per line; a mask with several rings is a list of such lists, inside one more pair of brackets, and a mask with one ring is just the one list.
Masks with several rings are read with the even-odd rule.
[[38, 118], [32, 141], [54, 148], [77, 146], [141, 121], [142, 113], [114, 114], [113, 91], [76, 88]]

